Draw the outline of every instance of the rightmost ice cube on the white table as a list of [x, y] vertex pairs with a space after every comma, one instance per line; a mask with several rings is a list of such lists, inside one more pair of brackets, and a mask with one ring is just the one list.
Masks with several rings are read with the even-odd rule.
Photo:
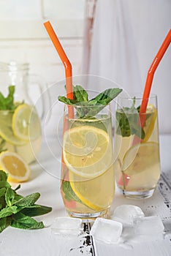
[[156, 216], [134, 219], [134, 233], [136, 235], [155, 235], [164, 233], [164, 225]]

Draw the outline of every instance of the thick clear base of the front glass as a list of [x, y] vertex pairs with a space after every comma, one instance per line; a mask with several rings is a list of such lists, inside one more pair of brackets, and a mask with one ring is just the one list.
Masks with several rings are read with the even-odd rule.
[[109, 208], [104, 211], [99, 211], [95, 213], [85, 213], [85, 214], [79, 214], [72, 211], [68, 211], [69, 217], [79, 218], [82, 219], [82, 222], [94, 222], [94, 220], [98, 217], [107, 218], [107, 215], [109, 213]]

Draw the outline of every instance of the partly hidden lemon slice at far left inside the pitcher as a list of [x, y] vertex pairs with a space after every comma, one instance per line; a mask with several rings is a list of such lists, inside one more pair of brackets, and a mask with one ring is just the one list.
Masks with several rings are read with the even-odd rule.
[[0, 136], [13, 145], [23, 145], [26, 143], [26, 141], [15, 137], [12, 131], [12, 115], [13, 113], [10, 110], [0, 111]]

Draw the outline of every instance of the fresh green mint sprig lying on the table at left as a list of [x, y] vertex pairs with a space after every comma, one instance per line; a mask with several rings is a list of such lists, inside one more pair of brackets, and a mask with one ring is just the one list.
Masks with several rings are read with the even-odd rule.
[[43, 222], [37, 222], [32, 217], [47, 214], [51, 207], [35, 204], [39, 192], [23, 197], [12, 189], [7, 182], [7, 173], [0, 170], [0, 233], [8, 226], [22, 229], [38, 229], [44, 227]]

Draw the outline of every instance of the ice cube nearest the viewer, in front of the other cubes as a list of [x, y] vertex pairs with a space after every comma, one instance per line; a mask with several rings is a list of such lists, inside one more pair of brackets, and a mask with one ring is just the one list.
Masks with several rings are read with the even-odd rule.
[[91, 227], [91, 236], [96, 240], [107, 244], [118, 243], [122, 233], [121, 222], [115, 222], [112, 219], [96, 218], [93, 227]]

